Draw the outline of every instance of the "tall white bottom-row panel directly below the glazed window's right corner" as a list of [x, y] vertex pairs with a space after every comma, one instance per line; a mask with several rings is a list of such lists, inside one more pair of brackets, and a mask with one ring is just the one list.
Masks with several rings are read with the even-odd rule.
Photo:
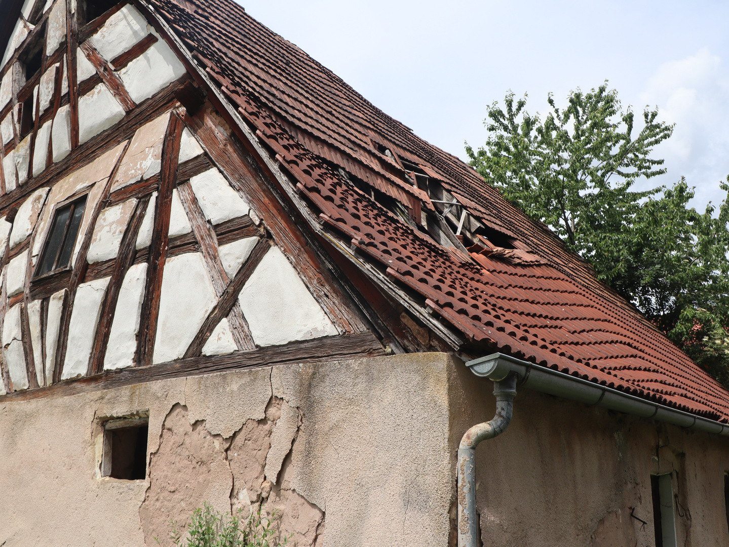
[[77, 378], [86, 374], [98, 316], [101, 313], [101, 302], [104, 302], [109, 279], [82, 283], [76, 291], [61, 379]]

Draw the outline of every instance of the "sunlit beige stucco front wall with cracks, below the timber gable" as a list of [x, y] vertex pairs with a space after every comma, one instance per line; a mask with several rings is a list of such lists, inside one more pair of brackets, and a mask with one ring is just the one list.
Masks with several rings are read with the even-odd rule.
[[[402, 355], [0, 403], [0, 545], [164, 544], [203, 499], [265, 495], [289, 545], [445, 545], [451, 366]], [[152, 480], [99, 478], [101, 422], [147, 411]]]

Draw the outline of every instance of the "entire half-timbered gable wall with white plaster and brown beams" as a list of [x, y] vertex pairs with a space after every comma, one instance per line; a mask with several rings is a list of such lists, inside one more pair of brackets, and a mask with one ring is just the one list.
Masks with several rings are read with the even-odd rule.
[[362, 331], [292, 265], [315, 272], [305, 245], [276, 244], [241, 184], [260, 175], [219, 168], [225, 124], [181, 106], [195, 86], [139, 10], [78, 27], [84, 4], [39, 5], [0, 69], [0, 394]]

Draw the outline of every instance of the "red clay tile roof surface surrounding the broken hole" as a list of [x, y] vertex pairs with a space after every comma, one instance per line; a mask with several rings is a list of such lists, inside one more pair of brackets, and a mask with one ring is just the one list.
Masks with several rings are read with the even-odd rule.
[[[321, 221], [467, 339], [687, 412], [729, 419], [729, 393], [721, 385], [472, 168], [376, 109], [232, 1], [150, 1], [278, 156]], [[467, 256], [397, 219], [339, 171], [413, 211], [432, 209], [427, 194], [407, 183], [399, 160], [378, 146], [440, 181], [472, 215], [521, 242], [526, 254], [518, 260]]]

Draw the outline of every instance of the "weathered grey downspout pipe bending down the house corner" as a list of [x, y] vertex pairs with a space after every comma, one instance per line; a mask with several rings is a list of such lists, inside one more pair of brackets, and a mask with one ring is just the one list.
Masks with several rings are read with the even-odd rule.
[[494, 382], [496, 415], [491, 422], [474, 425], [467, 430], [458, 448], [458, 545], [478, 545], [478, 516], [476, 513], [476, 446], [481, 441], [494, 438], [509, 427], [514, 397], [516, 374], [509, 374], [500, 382]]

